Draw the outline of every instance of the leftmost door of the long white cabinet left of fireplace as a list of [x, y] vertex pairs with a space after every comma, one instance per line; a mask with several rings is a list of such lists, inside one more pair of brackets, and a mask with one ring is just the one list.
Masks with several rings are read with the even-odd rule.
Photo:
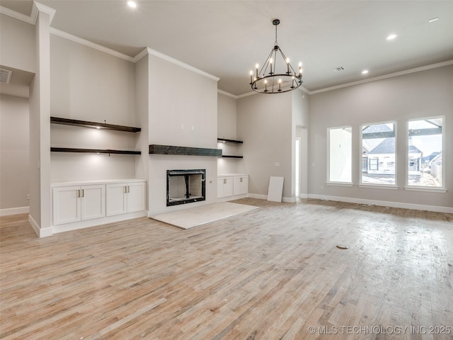
[[54, 225], [78, 222], [81, 219], [81, 190], [79, 186], [52, 189]]

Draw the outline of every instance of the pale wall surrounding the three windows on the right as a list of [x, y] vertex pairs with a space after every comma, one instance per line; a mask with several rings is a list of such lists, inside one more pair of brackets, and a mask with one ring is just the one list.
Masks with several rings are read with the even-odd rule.
[[[357, 86], [313, 94], [310, 98], [309, 193], [453, 207], [453, 66], [372, 81]], [[447, 193], [405, 191], [407, 161], [407, 120], [444, 115], [444, 166]], [[359, 188], [361, 154], [360, 125], [395, 120], [397, 124], [398, 190]], [[352, 188], [326, 186], [327, 128], [352, 125]], [[323, 190], [321, 191], [321, 186]]]

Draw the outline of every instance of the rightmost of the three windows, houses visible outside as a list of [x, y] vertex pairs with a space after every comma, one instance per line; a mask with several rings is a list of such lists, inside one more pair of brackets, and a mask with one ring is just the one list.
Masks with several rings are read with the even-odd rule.
[[442, 118], [408, 122], [408, 186], [442, 187]]

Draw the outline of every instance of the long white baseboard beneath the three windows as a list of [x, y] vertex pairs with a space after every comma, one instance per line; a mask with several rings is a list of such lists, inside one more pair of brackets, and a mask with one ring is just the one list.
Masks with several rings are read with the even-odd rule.
[[363, 198], [326, 196], [326, 195], [314, 195], [314, 194], [309, 194], [309, 198], [316, 198], [316, 199], [319, 199], [319, 200], [335, 200], [335, 201], [338, 201], [338, 202], [379, 205], [379, 206], [382, 206], [382, 207], [391, 207], [391, 208], [403, 208], [403, 209], [412, 209], [412, 210], [427, 210], [427, 211], [434, 211], [434, 212], [447, 212], [449, 214], [453, 213], [453, 208], [450, 208], [450, 207], [438, 207], [436, 205], [424, 205], [424, 204], [391, 202], [391, 201], [387, 201], [387, 200], [365, 200]]

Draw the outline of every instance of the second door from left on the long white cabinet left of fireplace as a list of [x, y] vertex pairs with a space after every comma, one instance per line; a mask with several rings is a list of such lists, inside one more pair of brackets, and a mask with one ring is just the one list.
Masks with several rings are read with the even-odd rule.
[[81, 186], [81, 220], [105, 216], [105, 186]]

